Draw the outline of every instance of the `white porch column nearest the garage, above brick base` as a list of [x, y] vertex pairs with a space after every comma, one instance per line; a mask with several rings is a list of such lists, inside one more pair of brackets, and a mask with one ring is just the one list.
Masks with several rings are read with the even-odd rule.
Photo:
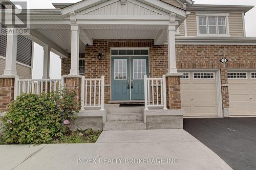
[[168, 73], [177, 73], [176, 67], [176, 47], [175, 47], [175, 25], [168, 25]]

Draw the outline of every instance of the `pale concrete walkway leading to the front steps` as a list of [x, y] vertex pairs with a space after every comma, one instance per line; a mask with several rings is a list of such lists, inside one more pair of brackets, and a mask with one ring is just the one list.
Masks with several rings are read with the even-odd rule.
[[0, 165], [33, 170], [231, 169], [184, 130], [104, 131], [97, 143], [88, 144], [0, 145]]

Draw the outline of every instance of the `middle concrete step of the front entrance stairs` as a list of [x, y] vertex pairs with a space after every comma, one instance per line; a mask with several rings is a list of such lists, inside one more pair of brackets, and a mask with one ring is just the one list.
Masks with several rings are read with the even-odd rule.
[[142, 113], [109, 113], [106, 114], [106, 121], [143, 121], [143, 116]]

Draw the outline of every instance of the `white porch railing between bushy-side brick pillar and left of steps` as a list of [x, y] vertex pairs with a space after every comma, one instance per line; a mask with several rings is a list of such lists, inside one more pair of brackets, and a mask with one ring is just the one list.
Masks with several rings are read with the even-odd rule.
[[86, 79], [82, 76], [81, 110], [100, 107], [104, 110], [104, 76], [101, 79]]

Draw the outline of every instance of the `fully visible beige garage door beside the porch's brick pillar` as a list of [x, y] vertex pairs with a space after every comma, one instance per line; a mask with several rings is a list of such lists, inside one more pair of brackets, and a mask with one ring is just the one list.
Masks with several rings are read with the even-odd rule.
[[183, 72], [181, 106], [185, 116], [218, 116], [216, 72]]

